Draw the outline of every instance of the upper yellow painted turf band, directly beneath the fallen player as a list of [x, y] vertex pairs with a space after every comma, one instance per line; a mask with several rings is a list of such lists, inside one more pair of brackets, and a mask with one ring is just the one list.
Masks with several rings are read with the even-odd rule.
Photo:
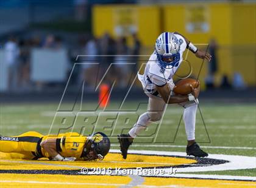
[[80, 169], [81, 167], [100, 167], [100, 168], [136, 168], [136, 167], [160, 167], [177, 166], [182, 164], [197, 163], [195, 159], [178, 158], [172, 156], [155, 155], [136, 155], [130, 154], [127, 159], [123, 159], [119, 153], [109, 153], [103, 161], [48, 161], [46, 158], [41, 160], [27, 161], [22, 159], [0, 159], [1, 170], [63, 170]]

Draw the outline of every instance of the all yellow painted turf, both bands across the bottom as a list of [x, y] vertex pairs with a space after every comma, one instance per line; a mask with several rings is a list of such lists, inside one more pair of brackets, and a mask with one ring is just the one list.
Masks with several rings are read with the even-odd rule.
[[[87, 168], [135, 168], [177, 166], [197, 163], [195, 159], [173, 156], [136, 155], [130, 154], [126, 160], [119, 153], [109, 153], [104, 161], [48, 161], [46, 158], [35, 161], [10, 159], [1, 155], [0, 187], [255, 187], [252, 181], [199, 180], [192, 178], [160, 178], [140, 176], [110, 176], [110, 175], [65, 175], [60, 173], [22, 172], [22, 170], [77, 170]], [[4, 172], [4, 170], [18, 170]], [[137, 179], [142, 179], [137, 183]], [[135, 184], [134, 184], [135, 183]]]

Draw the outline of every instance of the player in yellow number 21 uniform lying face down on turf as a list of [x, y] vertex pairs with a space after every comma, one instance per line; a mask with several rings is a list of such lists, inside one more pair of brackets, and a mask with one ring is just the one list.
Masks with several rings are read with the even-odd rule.
[[[79, 133], [41, 135], [26, 132], [19, 136], [0, 136], [0, 156], [5, 158], [38, 159], [55, 161], [104, 159], [110, 149], [110, 140], [102, 132], [93, 136]], [[4, 153], [1, 153], [4, 152]]]

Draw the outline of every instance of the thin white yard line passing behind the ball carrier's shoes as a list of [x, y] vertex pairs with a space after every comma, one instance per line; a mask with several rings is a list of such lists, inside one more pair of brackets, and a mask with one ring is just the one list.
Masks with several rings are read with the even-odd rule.
[[[119, 144], [111, 144], [111, 146], [119, 147]], [[185, 148], [187, 146], [179, 146], [179, 145], [167, 145], [167, 144], [133, 144], [132, 147], [182, 147]], [[256, 147], [231, 147], [231, 146], [200, 146], [202, 148], [210, 148], [210, 149], [249, 149], [254, 150]]]

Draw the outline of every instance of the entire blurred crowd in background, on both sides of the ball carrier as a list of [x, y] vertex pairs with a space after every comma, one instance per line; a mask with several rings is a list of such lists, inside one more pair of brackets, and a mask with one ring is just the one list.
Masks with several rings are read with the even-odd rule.
[[[23, 92], [30, 90], [41, 91], [48, 86], [65, 86], [71, 69], [75, 62], [80, 63], [79, 69], [73, 72], [71, 84], [80, 84], [85, 81], [87, 89], [94, 89], [96, 83], [104, 78], [104, 82], [124, 88], [128, 86], [130, 78], [137, 74], [141, 42], [136, 33], [129, 36], [129, 45], [126, 37], [112, 38], [105, 33], [100, 38], [92, 35], [77, 36], [76, 42], [64, 40], [60, 36], [52, 34], [43, 37], [17, 38], [10, 36], [5, 42], [5, 63], [8, 66], [8, 91]], [[32, 81], [31, 80], [31, 53], [32, 49], [66, 49], [68, 52], [68, 69], [66, 80], [62, 83]], [[212, 62], [208, 64], [208, 73], [205, 78], [207, 89], [216, 87], [215, 80], [218, 74], [218, 44], [215, 39], [210, 41], [209, 52], [212, 55]], [[77, 59], [77, 55], [84, 55]], [[48, 59], [45, 59], [47, 61]], [[82, 64], [81, 64], [82, 62]], [[51, 69], [51, 67], [49, 67]], [[97, 79], [97, 80], [96, 80]], [[219, 85], [222, 89], [244, 89], [243, 76], [234, 73], [230, 81], [226, 75], [221, 76]]]

